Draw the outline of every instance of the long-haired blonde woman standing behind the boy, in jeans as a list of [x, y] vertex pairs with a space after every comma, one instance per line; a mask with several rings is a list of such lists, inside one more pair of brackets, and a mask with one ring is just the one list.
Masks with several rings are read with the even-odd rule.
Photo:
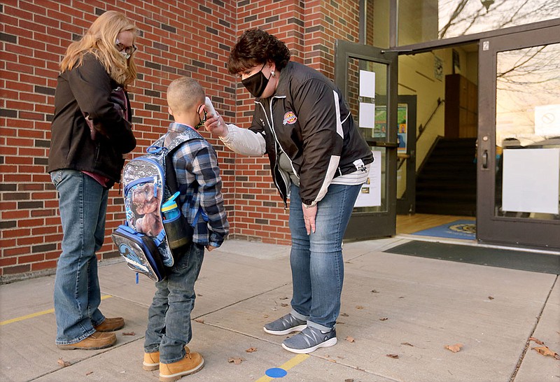
[[136, 79], [137, 28], [108, 11], [73, 42], [60, 63], [48, 172], [59, 193], [62, 254], [55, 279], [61, 349], [93, 350], [116, 343], [123, 318], [99, 311], [96, 251], [104, 241], [109, 189], [120, 181], [125, 153], [136, 147], [125, 90]]

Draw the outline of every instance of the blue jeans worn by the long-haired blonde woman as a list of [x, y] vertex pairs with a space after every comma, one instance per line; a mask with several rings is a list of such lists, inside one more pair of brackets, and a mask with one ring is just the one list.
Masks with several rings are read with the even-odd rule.
[[55, 278], [55, 342], [76, 344], [105, 320], [95, 252], [103, 245], [109, 190], [80, 171], [52, 171], [50, 178], [59, 193], [64, 234]]

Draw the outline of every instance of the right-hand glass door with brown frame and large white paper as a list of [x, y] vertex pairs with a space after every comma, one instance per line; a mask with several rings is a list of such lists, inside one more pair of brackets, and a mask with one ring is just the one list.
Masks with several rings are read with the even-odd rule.
[[477, 239], [560, 248], [560, 23], [479, 43]]

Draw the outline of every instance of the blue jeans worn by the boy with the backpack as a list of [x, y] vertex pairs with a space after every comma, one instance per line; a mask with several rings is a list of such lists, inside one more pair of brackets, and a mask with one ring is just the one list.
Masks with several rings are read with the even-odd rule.
[[148, 309], [144, 351], [159, 351], [162, 363], [182, 360], [184, 347], [193, 338], [190, 312], [195, 307], [195, 281], [202, 260], [204, 246], [193, 243], [188, 252], [167, 269], [167, 276], [155, 283], [157, 290]]

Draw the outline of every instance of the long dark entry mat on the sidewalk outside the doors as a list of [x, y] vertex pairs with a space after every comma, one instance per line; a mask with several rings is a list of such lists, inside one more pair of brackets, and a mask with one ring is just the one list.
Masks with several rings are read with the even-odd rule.
[[468, 262], [491, 267], [560, 274], [560, 254], [534, 253], [501, 248], [461, 246], [429, 241], [409, 241], [384, 252], [432, 259]]

